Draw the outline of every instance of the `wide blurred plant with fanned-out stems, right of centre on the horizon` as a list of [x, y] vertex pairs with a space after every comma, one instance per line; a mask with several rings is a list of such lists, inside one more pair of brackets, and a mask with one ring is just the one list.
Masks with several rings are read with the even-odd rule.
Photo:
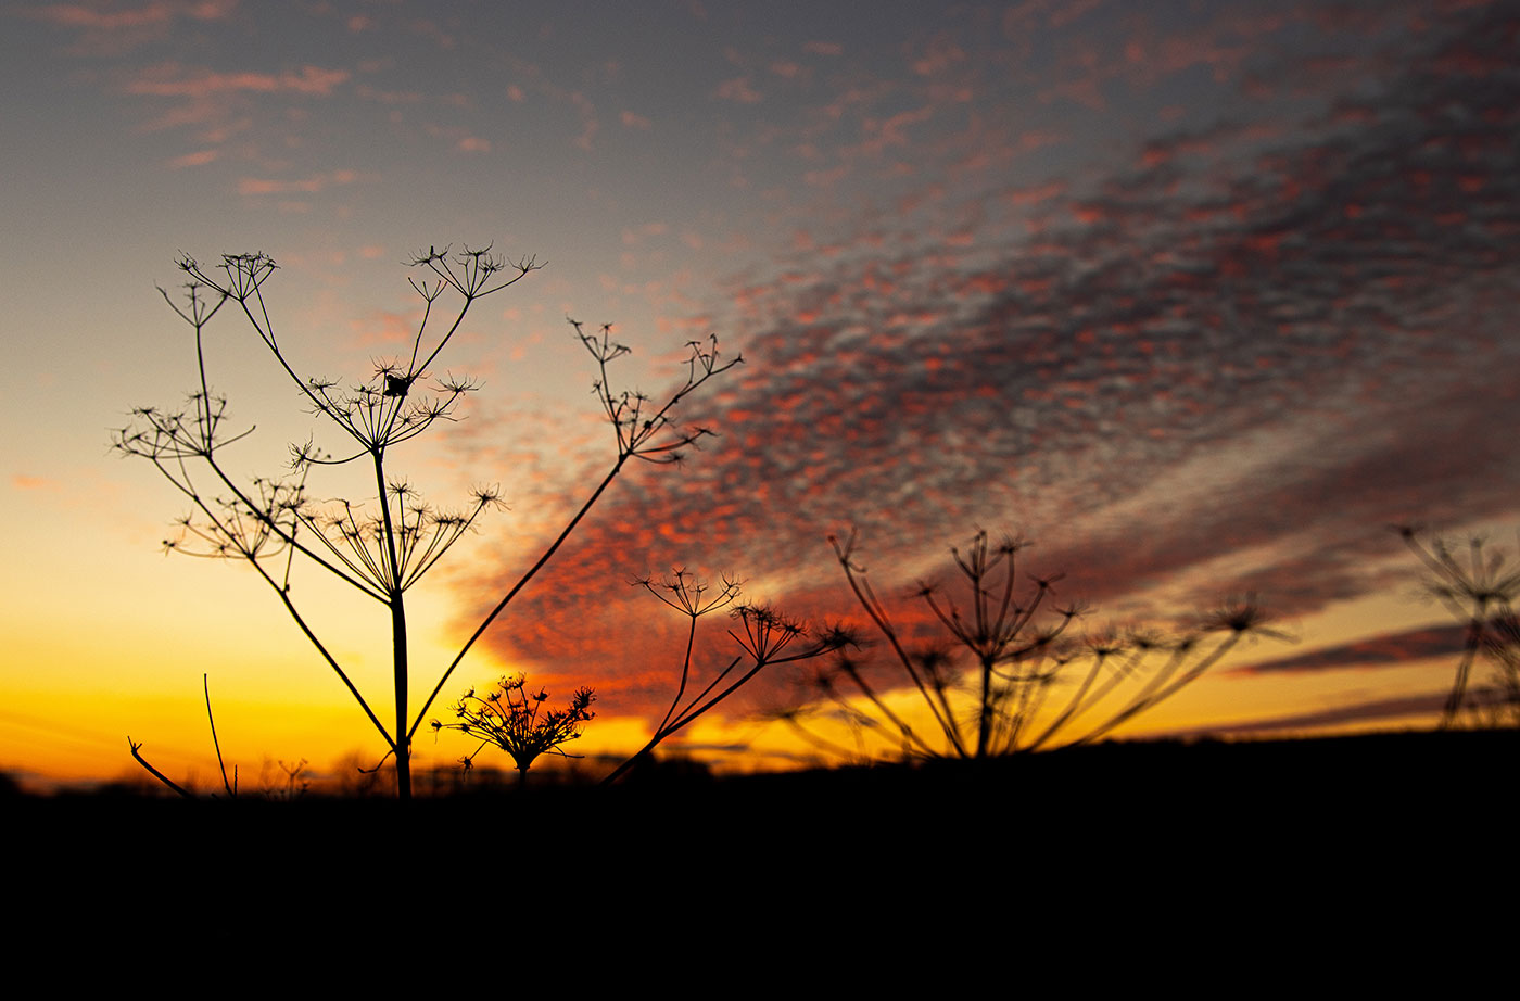
[[[891, 670], [877, 679], [841, 653], [809, 679], [807, 706], [775, 714], [844, 758], [877, 756], [871, 734], [904, 758], [988, 758], [1090, 743], [1198, 680], [1243, 636], [1278, 635], [1263, 627], [1252, 602], [1240, 602], [1175, 639], [1137, 629], [1069, 641], [1084, 609], [1050, 608], [1059, 577], [1031, 577], [1020, 591], [1017, 559], [1028, 542], [1005, 538], [994, 545], [977, 532], [964, 553], [950, 550], [965, 585], [961, 602], [929, 583], [917, 591], [948, 639], [910, 649], [854, 560], [854, 535], [845, 542], [830, 536], [850, 589], [886, 639]], [[904, 702], [904, 691], [915, 697]], [[907, 718], [909, 705], [929, 717], [927, 728]], [[853, 750], [807, 725], [807, 715], [825, 709], [851, 729]]]

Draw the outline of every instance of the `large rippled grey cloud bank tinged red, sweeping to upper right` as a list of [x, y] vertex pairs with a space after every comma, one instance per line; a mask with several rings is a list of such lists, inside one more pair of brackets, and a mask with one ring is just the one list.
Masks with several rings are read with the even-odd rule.
[[[1464, 17], [1307, 118], [1265, 106], [1032, 208], [1020, 184], [936, 210], [970, 243], [883, 214], [746, 275], [751, 365], [702, 410], [722, 441], [623, 489], [576, 559], [717, 559], [812, 612], [844, 608], [830, 530], [859, 526], [906, 579], [977, 524], [1020, 526], [1102, 603], [1192, 582], [1309, 614], [1391, 583], [1389, 521], [1512, 513], [1517, 21]], [[556, 573], [515, 655], [559, 656], [588, 595], [623, 608]]]

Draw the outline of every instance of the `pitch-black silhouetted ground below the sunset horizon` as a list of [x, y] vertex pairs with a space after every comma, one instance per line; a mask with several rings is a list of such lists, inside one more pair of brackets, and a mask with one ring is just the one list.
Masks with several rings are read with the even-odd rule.
[[593, 966], [705, 948], [746, 981], [803, 955], [942, 969], [977, 949], [1082, 978], [1242, 954], [1251, 978], [1306, 955], [1392, 969], [1508, 927], [1473, 920], [1515, 889], [1517, 737], [1107, 744], [406, 808], [11, 796], [8, 905], [23, 942], [67, 930], [149, 971], [445, 963], [467, 943]]

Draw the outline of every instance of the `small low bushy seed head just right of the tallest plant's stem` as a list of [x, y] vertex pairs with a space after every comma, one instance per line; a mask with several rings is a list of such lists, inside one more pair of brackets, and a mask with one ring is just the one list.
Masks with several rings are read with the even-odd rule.
[[540, 755], [579, 758], [581, 755], [567, 753], [562, 744], [581, 737], [582, 728], [596, 717], [591, 711], [596, 696], [590, 688], [576, 688], [568, 706], [544, 709], [549, 693], [543, 688], [529, 693], [526, 685], [527, 674], [517, 674], [502, 677], [483, 697], [471, 688], [454, 703], [458, 722], [433, 720], [433, 732], [459, 731], [480, 741], [479, 747], [459, 759], [465, 769], [470, 769], [474, 756], [486, 747], [500, 747], [517, 766], [518, 785], [527, 781], [527, 770]]

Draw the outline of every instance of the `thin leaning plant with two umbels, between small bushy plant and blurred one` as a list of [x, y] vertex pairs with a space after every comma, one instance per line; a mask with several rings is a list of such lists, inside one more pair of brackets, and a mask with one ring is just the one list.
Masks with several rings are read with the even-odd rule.
[[[631, 758], [617, 766], [603, 784], [616, 782], [629, 769], [644, 761], [667, 737], [679, 732], [719, 702], [745, 687], [766, 667], [810, 661], [854, 643], [842, 627], [815, 633], [804, 623], [760, 605], [734, 605], [739, 600], [739, 582], [722, 577], [717, 594], [708, 594], [710, 586], [689, 574], [675, 570], [670, 577], [654, 582], [640, 579], [634, 586], [646, 589], [663, 603], [684, 615], [687, 623], [686, 656], [681, 658], [681, 680], [664, 718], [654, 735]], [[730, 608], [731, 606], [731, 608]], [[728, 630], [740, 653], [717, 670], [701, 691], [687, 697], [687, 690], [696, 684], [693, 653], [696, 649], [696, 623], [704, 615], [730, 608], [730, 618], [737, 623]]]

